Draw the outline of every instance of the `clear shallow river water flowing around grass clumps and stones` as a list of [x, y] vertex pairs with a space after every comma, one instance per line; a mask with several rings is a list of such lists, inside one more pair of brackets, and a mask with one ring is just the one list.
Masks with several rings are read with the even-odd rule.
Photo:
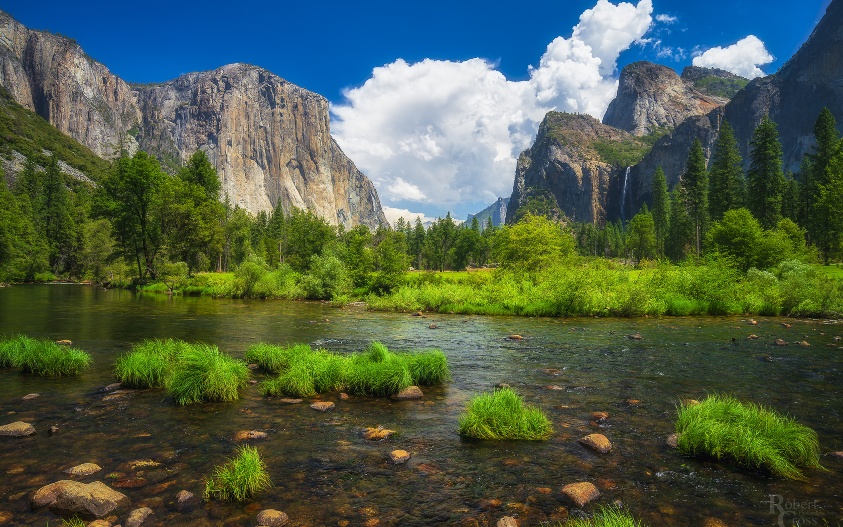
[[[843, 350], [827, 347], [843, 335], [839, 322], [427, 315], [75, 285], [0, 288], [0, 334], [69, 339], [94, 358], [88, 372], [72, 379], [0, 370], [0, 424], [26, 421], [37, 430], [30, 438], [0, 438], [0, 524], [56, 524], [48, 510], [30, 510], [30, 497], [81, 463], [103, 468], [81, 481], [122, 486], [132, 498], [129, 510], [153, 508], [144, 525], [252, 526], [260, 508], [286, 512], [290, 525], [474, 526], [494, 525], [502, 516], [534, 525], [590, 514], [590, 505], [577, 508], [560, 492], [578, 481], [599, 488], [596, 503], [620, 501], [649, 525], [706, 519], [730, 527], [776, 525], [788, 504], [801, 510], [781, 516], [783, 524], [843, 519], [843, 462], [831, 456], [821, 459], [827, 471], [783, 481], [664, 444], [679, 398], [717, 391], [797, 417], [817, 431], [823, 454], [843, 450]], [[427, 328], [432, 320], [438, 329]], [[634, 332], [641, 341], [626, 337]], [[752, 333], [760, 338], [744, 340]], [[503, 338], [512, 334], [525, 339]], [[161, 390], [100, 390], [115, 382], [118, 354], [141, 339], [165, 337], [205, 341], [235, 357], [260, 341], [328, 341], [324, 347], [337, 352], [361, 351], [373, 340], [394, 350], [437, 347], [448, 355], [454, 379], [424, 389], [417, 401], [326, 394], [298, 405], [265, 399], [257, 386], [236, 402], [186, 407]], [[771, 346], [776, 338], [811, 347]], [[542, 371], [551, 368], [560, 371]], [[255, 374], [260, 379], [262, 372]], [[549, 440], [459, 437], [466, 401], [497, 383], [511, 384], [549, 415]], [[21, 401], [30, 393], [40, 397]], [[313, 411], [315, 399], [335, 401], [336, 409]], [[592, 411], [608, 411], [609, 420], [590, 423]], [[399, 434], [381, 443], [361, 437], [361, 427], [381, 425]], [[50, 436], [52, 426], [60, 431]], [[202, 476], [234, 453], [231, 434], [253, 429], [268, 433], [250, 443], [260, 449], [274, 488], [256, 503], [175, 503], [180, 490], [201, 496]], [[613, 451], [593, 454], [577, 444], [589, 433], [603, 433]], [[394, 449], [407, 450], [411, 460], [392, 465]], [[158, 465], [132, 469], [136, 460]]]

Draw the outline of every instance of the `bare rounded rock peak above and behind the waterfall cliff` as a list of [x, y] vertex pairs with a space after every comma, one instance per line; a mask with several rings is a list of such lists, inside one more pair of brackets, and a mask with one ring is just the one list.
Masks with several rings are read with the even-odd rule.
[[635, 136], [679, 126], [690, 116], [704, 116], [728, 99], [706, 95], [673, 68], [639, 61], [620, 70], [618, 95], [609, 103], [603, 124]]

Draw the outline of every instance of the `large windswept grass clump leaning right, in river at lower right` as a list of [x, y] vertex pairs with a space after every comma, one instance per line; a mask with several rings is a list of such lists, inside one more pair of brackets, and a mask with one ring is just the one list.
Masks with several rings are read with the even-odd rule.
[[822, 468], [817, 433], [731, 395], [709, 395], [698, 405], [680, 406], [676, 432], [685, 454], [732, 460], [788, 479], [804, 479], [798, 467]]

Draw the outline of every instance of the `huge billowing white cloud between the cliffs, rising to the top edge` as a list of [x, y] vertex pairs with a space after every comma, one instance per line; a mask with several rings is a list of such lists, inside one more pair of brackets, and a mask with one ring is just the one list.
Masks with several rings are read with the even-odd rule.
[[602, 118], [617, 91], [618, 56], [645, 42], [651, 15], [652, 0], [599, 0], [570, 38], [550, 42], [524, 81], [507, 80], [481, 58], [376, 67], [332, 106], [331, 132], [364, 173], [382, 182], [382, 200], [440, 210], [493, 202], [511, 193], [518, 154], [547, 111]]

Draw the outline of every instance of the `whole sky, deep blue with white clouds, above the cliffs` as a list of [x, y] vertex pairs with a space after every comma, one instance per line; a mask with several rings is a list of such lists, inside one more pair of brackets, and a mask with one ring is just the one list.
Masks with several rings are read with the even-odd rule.
[[[464, 218], [509, 195], [514, 159], [545, 110], [602, 115], [617, 77], [612, 59], [618, 68], [649, 60], [680, 73], [695, 55], [754, 35], [740, 49], [709, 53], [711, 65], [760, 61], [763, 73], [774, 73], [828, 0], [642, 0], [626, 11], [616, 4], [13, 0], [0, 8], [31, 28], [76, 38], [129, 81], [164, 81], [229, 62], [266, 67], [330, 99], [332, 132], [385, 206]], [[577, 38], [606, 47], [593, 51], [597, 67], [574, 46], [578, 23]], [[609, 32], [599, 24], [628, 35], [604, 38]], [[765, 61], [765, 52], [775, 58]]]

